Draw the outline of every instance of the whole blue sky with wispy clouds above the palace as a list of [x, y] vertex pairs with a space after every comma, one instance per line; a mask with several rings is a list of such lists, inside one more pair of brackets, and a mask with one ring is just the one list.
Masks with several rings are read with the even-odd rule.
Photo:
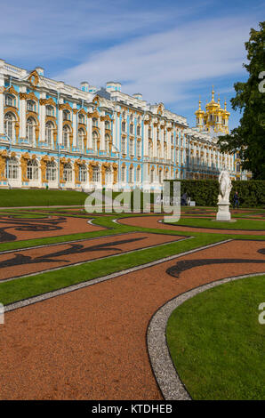
[[[195, 124], [212, 84], [226, 98], [244, 81], [245, 41], [263, 20], [263, 1], [13, 0], [1, 4], [0, 58], [78, 86], [119, 81], [122, 91]], [[217, 100], [217, 94], [216, 94]]]

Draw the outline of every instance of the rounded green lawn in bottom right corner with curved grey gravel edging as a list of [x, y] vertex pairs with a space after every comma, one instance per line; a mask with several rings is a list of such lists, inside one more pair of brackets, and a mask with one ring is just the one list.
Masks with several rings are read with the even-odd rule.
[[193, 399], [264, 399], [265, 275], [214, 287], [169, 318], [167, 342]]

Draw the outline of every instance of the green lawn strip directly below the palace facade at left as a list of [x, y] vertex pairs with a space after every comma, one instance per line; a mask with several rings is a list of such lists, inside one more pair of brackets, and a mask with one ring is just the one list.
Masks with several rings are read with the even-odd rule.
[[86, 197], [75, 190], [0, 189], [0, 206], [84, 205]]

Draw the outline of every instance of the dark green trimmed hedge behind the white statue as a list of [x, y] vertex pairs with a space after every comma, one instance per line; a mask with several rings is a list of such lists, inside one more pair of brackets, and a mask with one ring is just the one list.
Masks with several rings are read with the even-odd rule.
[[[178, 180], [179, 181], [179, 180]], [[219, 182], [217, 180], [180, 180], [181, 195], [186, 192], [191, 200], [198, 206], [216, 206], [219, 194]], [[173, 181], [171, 189], [173, 189]], [[265, 205], [265, 181], [232, 181], [230, 203], [237, 190], [239, 205], [241, 207], [261, 207]]]

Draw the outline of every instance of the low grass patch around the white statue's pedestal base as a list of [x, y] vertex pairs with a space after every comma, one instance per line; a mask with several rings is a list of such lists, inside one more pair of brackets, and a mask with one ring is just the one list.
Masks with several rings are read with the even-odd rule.
[[211, 228], [211, 229], [245, 229], [245, 230], [265, 230], [265, 221], [254, 221], [238, 219], [236, 222], [219, 222], [212, 221], [211, 219], [198, 219], [198, 218], [181, 218], [180, 221], [174, 222], [175, 225], [186, 225], [190, 227], [198, 228]]

